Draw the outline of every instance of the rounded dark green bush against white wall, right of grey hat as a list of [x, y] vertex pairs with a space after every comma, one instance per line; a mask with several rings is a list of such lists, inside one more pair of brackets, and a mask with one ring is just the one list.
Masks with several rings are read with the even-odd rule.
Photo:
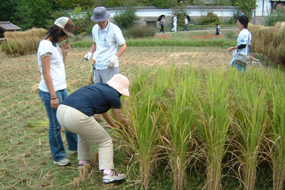
[[120, 27], [120, 29], [129, 29], [138, 20], [138, 16], [135, 15], [135, 9], [128, 8], [120, 14], [115, 14], [114, 21]]

